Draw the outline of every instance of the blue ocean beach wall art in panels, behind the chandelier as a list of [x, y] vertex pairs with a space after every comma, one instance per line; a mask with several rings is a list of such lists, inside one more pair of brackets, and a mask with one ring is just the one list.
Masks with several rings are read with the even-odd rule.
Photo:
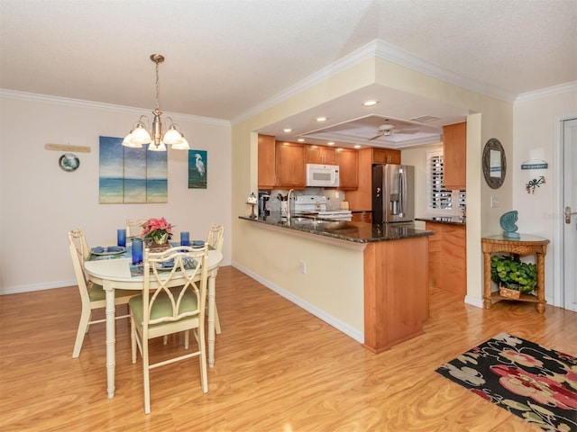
[[167, 152], [123, 147], [122, 141], [100, 137], [98, 202], [168, 202]]

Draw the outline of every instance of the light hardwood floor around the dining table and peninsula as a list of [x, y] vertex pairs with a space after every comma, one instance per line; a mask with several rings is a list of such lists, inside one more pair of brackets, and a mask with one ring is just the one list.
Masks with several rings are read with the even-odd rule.
[[[104, 324], [72, 358], [77, 287], [0, 296], [0, 430], [538, 430], [435, 369], [502, 331], [577, 355], [577, 313], [552, 306], [543, 315], [533, 303], [484, 311], [434, 290], [425, 334], [373, 355], [232, 267], [216, 284], [223, 333], [209, 392], [200, 389], [197, 359], [161, 367], [151, 372], [148, 416], [128, 320], [117, 321], [116, 393], [107, 400]], [[182, 340], [154, 348], [182, 349]]]

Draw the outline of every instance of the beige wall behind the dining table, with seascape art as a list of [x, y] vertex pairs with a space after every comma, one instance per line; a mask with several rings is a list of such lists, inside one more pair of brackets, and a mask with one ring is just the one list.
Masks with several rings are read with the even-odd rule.
[[[166, 217], [175, 231], [206, 238], [224, 225], [224, 263], [231, 260], [231, 151], [227, 121], [170, 114], [192, 148], [207, 151], [207, 189], [188, 189], [188, 152], [169, 150], [169, 202], [98, 203], [98, 137], [123, 137], [147, 110], [0, 93], [0, 293], [76, 284], [67, 232], [80, 226], [92, 246], [115, 242], [126, 218]], [[60, 169], [61, 151], [46, 143], [88, 146], [78, 171]], [[178, 235], [178, 234], [177, 234]]]

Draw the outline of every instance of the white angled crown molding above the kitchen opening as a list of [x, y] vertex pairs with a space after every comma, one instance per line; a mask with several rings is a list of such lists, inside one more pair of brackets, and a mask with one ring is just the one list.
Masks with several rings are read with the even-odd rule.
[[448, 69], [445, 69], [444, 67], [439, 67], [434, 63], [428, 62], [422, 58], [417, 58], [417, 56], [414, 56], [408, 51], [400, 49], [395, 45], [391, 45], [384, 40], [377, 39], [372, 40], [360, 49], [354, 50], [352, 53], [335, 61], [331, 65], [323, 67], [315, 74], [308, 76], [295, 85], [291, 85], [289, 88], [283, 90], [279, 94], [276, 94], [263, 103], [255, 105], [247, 112], [243, 112], [243, 114], [240, 116], [235, 117], [232, 120], [232, 123], [235, 124], [240, 121], [244, 121], [253, 115], [258, 114], [259, 112], [267, 110], [277, 103], [288, 99], [292, 95], [298, 94], [313, 85], [325, 81], [325, 79], [328, 79], [331, 76], [343, 72], [350, 67], [356, 66], [368, 58], [375, 57], [389, 60], [400, 66], [408, 67], [425, 75], [438, 78], [446, 83], [459, 85], [463, 88], [480, 94], [486, 94], [488, 96], [495, 97], [499, 100], [509, 103], [515, 102], [516, 94], [505, 92], [497, 87], [483, 84], [479, 81], [467, 78], [466, 76], [460, 76]]

